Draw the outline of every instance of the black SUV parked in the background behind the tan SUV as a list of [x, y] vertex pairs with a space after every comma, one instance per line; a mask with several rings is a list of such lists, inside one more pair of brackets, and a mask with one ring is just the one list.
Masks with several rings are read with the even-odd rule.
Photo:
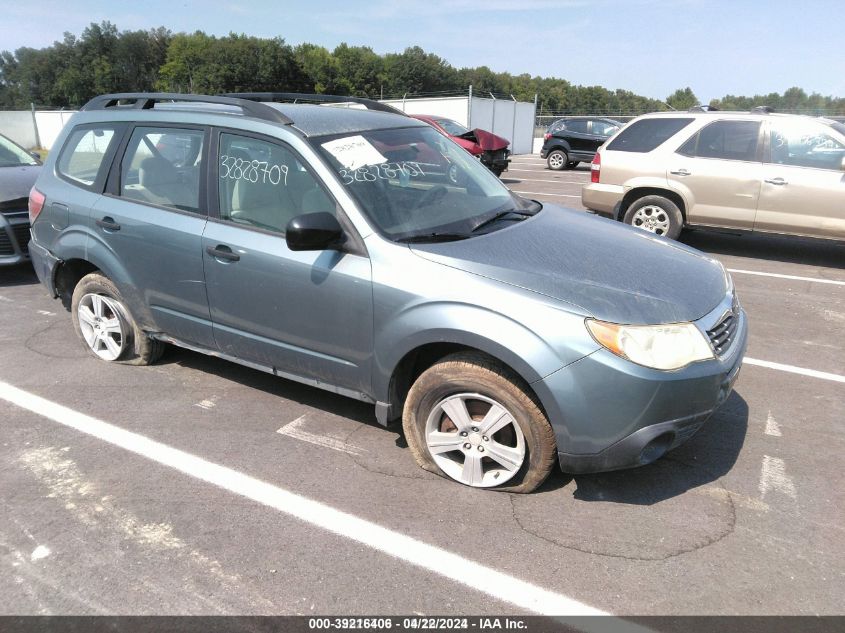
[[558, 119], [543, 138], [540, 156], [549, 169], [574, 169], [581, 161], [591, 161], [596, 150], [616, 134], [623, 123], [601, 117], [573, 116]]

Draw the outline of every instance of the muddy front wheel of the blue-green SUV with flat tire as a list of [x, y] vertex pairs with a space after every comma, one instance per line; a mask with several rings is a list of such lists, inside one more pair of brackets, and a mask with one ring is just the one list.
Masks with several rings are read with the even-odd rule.
[[554, 432], [534, 398], [481, 354], [455, 354], [423, 372], [402, 425], [422, 468], [474, 488], [531, 492], [555, 464]]

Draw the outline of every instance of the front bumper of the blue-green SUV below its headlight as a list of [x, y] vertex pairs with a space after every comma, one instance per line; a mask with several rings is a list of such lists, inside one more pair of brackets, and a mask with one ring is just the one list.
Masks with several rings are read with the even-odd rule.
[[555, 430], [561, 469], [642, 466], [692, 437], [730, 395], [747, 327], [739, 308], [727, 352], [677, 371], [642, 367], [601, 349], [534, 383]]

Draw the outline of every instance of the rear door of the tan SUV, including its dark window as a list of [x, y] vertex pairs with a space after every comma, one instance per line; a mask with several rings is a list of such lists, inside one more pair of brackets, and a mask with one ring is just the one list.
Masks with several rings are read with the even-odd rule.
[[666, 179], [691, 224], [752, 229], [763, 174], [761, 123], [713, 121], [669, 156]]

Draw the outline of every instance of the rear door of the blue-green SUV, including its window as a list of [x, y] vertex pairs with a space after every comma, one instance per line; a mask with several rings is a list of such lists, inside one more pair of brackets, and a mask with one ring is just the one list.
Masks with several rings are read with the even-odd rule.
[[170, 125], [127, 133], [91, 212], [90, 249], [142, 327], [213, 348], [201, 248], [208, 135]]

